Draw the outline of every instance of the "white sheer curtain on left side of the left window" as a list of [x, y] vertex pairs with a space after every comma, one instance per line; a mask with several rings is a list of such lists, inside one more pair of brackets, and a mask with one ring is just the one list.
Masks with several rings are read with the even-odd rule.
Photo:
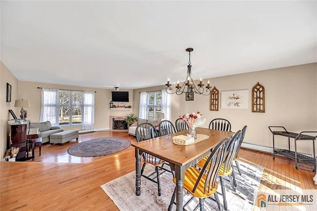
[[58, 89], [42, 88], [40, 121], [58, 126]]

